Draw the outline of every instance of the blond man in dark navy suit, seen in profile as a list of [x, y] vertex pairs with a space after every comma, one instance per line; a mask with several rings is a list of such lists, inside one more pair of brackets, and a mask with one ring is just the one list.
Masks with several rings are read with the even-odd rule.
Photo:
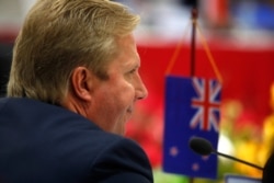
[[138, 23], [109, 0], [32, 7], [0, 100], [1, 183], [153, 182], [146, 153], [124, 137], [147, 96]]

